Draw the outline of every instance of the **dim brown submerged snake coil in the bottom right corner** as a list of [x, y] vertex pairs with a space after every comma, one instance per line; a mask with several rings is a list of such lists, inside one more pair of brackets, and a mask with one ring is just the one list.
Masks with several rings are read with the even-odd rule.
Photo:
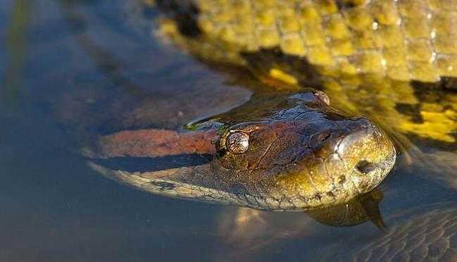
[[[405, 219], [406, 218], [406, 219]], [[427, 212], [396, 218], [401, 222], [368, 244], [354, 249], [339, 244], [337, 254], [322, 261], [456, 261], [456, 204], [431, 206]], [[347, 252], [353, 250], [354, 252]]]

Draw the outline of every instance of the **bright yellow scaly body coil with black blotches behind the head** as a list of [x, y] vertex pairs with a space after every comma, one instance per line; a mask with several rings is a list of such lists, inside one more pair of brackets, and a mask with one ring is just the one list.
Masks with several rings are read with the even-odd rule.
[[190, 54], [322, 88], [396, 132], [456, 142], [457, 93], [443, 89], [457, 86], [457, 0], [190, 2], [198, 34], [173, 16], [158, 23]]

